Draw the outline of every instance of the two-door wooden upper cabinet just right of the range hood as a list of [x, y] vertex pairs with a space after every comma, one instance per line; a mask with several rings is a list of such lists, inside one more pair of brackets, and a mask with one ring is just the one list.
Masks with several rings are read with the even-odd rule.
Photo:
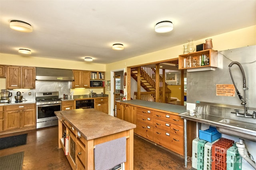
[[90, 71], [73, 70], [74, 81], [72, 88], [89, 88], [90, 87]]

